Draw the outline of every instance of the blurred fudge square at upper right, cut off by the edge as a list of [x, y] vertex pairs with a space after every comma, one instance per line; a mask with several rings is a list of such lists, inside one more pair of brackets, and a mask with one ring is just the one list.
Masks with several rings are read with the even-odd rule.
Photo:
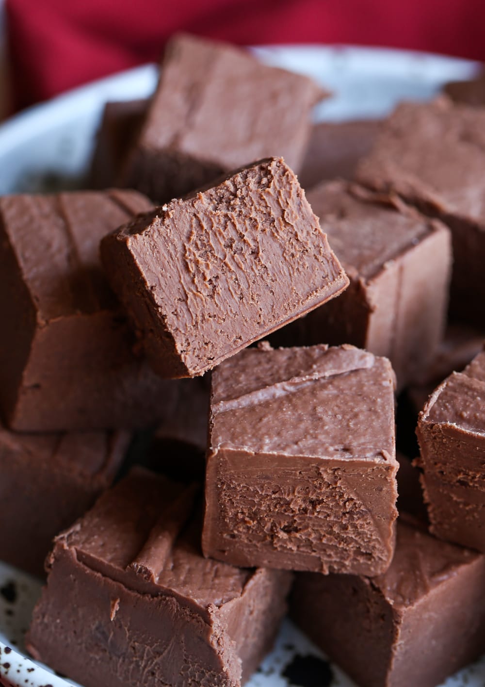
[[399, 105], [356, 174], [450, 227], [451, 314], [474, 326], [485, 317], [484, 166], [485, 110], [440, 98]]

